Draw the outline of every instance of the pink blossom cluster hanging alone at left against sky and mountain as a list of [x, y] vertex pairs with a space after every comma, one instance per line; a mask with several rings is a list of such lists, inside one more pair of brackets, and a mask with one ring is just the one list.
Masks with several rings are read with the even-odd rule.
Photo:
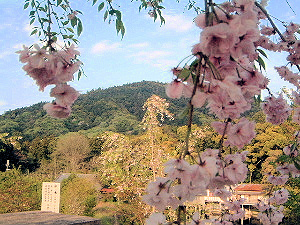
[[79, 96], [79, 92], [67, 82], [73, 80], [74, 73], [79, 70], [81, 62], [76, 56], [80, 53], [75, 50], [74, 45], [59, 51], [53, 50], [52, 47], [47, 49], [35, 44], [30, 48], [23, 46], [23, 50], [17, 53], [20, 54], [20, 61], [26, 63], [23, 69], [36, 81], [40, 91], [44, 91], [48, 85], [55, 85], [50, 92], [55, 101], [44, 105], [48, 115], [66, 118]]

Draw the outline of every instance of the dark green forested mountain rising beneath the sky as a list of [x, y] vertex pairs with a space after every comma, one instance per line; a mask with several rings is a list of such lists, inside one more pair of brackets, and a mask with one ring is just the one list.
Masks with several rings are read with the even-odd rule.
[[[185, 124], [184, 117], [180, 118], [179, 114], [186, 108], [188, 100], [169, 99], [165, 94], [165, 84], [142, 81], [82, 94], [73, 105], [72, 115], [67, 119], [47, 116], [43, 110], [43, 102], [5, 112], [0, 116], [0, 133], [22, 136], [25, 140], [87, 129], [138, 133], [144, 115], [143, 104], [153, 94], [166, 98], [170, 103], [169, 110], [175, 115], [173, 125]], [[206, 124], [210, 120], [211, 116], [208, 116], [206, 109], [195, 113], [196, 124]]]

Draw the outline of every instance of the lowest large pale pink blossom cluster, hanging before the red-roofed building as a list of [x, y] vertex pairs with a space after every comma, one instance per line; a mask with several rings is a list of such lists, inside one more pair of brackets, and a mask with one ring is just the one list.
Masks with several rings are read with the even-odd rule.
[[[159, 177], [149, 183], [148, 194], [143, 196], [143, 201], [158, 211], [164, 211], [168, 206], [176, 209], [210, 189], [225, 202], [228, 213], [224, 214], [224, 221], [241, 219], [244, 216], [241, 209], [243, 201], [231, 199], [232, 194], [227, 187], [246, 179], [248, 169], [244, 161], [247, 153], [229, 154], [222, 158], [218, 149], [206, 149], [197, 164], [193, 165], [184, 159], [172, 159], [165, 163], [166, 177]], [[155, 215], [163, 218], [160, 214]]]

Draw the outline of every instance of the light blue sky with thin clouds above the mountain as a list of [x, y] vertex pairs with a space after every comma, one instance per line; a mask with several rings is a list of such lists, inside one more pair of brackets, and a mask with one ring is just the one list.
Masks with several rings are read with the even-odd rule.
[[[86, 0], [70, 1], [74, 9], [83, 12], [80, 18], [84, 31], [79, 50], [87, 77], [71, 82], [81, 93], [142, 80], [169, 82], [170, 69], [190, 54], [199, 41], [200, 30], [193, 25], [195, 14], [184, 10], [186, 0], [164, 4], [166, 24], [154, 23], [147, 11], [138, 11], [138, 3], [119, 0], [126, 26], [125, 37], [116, 35], [113, 24], [103, 22], [103, 14]], [[202, 1], [201, 1], [202, 2]], [[219, 1], [220, 2], [220, 1]], [[123, 4], [121, 4], [123, 3]], [[300, 13], [300, 0], [290, 0], [294, 11]], [[271, 14], [284, 21], [300, 23], [285, 0], [270, 0]], [[34, 81], [25, 75], [15, 52], [36, 43], [30, 37], [28, 11], [21, 0], [0, 0], [0, 114], [4, 111], [29, 106], [40, 101], [51, 101], [49, 90], [39, 92]], [[276, 63], [285, 64], [284, 55], [271, 55], [267, 60], [268, 76], [277, 76], [272, 69]], [[282, 81], [275, 79], [271, 88], [279, 90]]]

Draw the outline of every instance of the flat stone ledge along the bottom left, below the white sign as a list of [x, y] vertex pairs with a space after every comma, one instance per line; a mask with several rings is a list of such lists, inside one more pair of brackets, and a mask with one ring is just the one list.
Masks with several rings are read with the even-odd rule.
[[0, 225], [100, 225], [98, 219], [45, 211], [0, 214]]

